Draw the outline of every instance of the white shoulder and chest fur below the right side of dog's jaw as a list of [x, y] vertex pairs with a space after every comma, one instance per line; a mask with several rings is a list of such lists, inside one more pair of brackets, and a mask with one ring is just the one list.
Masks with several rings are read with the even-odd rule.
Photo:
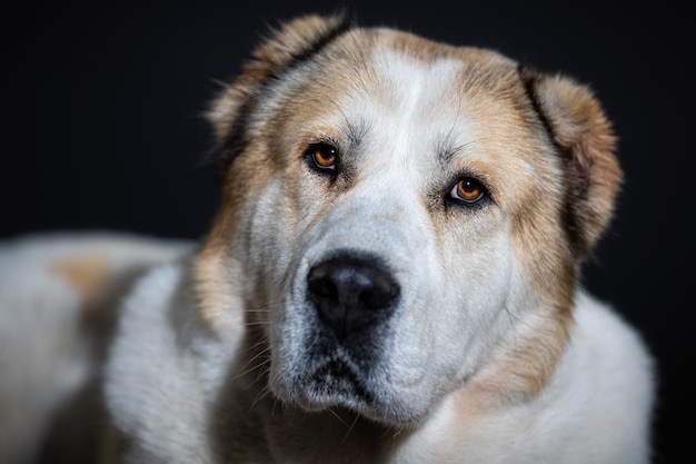
[[[500, 462], [538, 462], [543, 455], [563, 463], [647, 464], [652, 354], [614, 307], [581, 289], [575, 302], [569, 342], [539, 394], [480, 409], [477, 396], [463, 388], [429, 426], [458, 431], [443, 448], [466, 451], [474, 462], [491, 460], [497, 450]], [[432, 433], [426, 435], [432, 440]]]

